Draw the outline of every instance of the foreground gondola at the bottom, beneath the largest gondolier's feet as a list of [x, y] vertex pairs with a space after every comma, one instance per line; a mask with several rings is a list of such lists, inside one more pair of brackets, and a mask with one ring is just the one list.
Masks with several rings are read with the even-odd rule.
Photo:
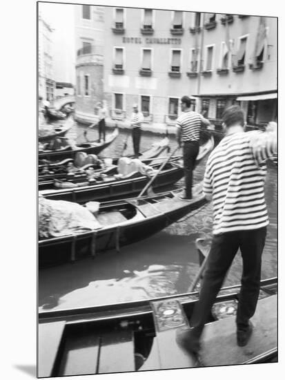
[[277, 361], [277, 278], [261, 281], [253, 335], [236, 344], [239, 285], [221, 289], [195, 357], [176, 343], [199, 296], [190, 292], [141, 301], [39, 313], [38, 377], [210, 367]]

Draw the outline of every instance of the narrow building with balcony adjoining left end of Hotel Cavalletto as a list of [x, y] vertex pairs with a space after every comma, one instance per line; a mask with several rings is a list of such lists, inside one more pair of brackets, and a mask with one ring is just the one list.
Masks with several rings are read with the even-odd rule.
[[93, 122], [103, 97], [104, 8], [75, 6], [75, 118]]

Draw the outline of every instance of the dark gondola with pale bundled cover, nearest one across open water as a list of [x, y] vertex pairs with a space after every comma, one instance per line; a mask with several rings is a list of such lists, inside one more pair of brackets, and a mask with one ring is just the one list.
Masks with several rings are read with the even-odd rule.
[[193, 200], [183, 200], [178, 191], [169, 191], [102, 202], [99, 212], [94, 214], [99, 222], [94, 230], [69, 231], [66, 236], [57, 234], [57, 237], [40, 238], [39, 268], [95, 256], [108, 249], [119, 251], [123, 245], [148, 238], [206, 203], [201, 184], [193, 187], [193, 193]]

